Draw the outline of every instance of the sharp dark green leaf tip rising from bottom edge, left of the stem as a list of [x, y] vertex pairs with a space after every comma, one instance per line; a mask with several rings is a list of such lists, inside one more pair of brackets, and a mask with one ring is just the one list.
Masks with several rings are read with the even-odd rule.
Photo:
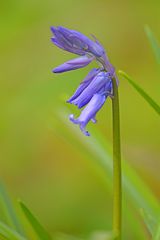
[[31, 211], [25, 206], [25, 204], [21, 201], [19, 201], [19, 203], [20, 203], [20, 206], [21, 206], [26, 218], [32, 225], [34, 231], [36, 232], [38, 238], [40, 240], [51, 240], [52, 238], [50, 237], [50, 235], [42, 227], [42, 225], [39, 223], [37, 218], [31, 213]]

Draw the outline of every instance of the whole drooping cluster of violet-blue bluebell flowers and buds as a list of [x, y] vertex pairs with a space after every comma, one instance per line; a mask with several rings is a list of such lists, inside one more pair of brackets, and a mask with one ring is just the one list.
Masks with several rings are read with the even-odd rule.
[[62, 73], [78, 68], [83, 68], [96, 60], [101, 67], [92, 69], [80, 83], [73, 96], [67, 101], [83, 108], [80, 116], [75, 119], [70, 115], [70, 120], [79, 124], [81, 131], [89, 136], [85, 127], [91, 120], [96, 123], [96, 113], [105, 103], [108, 96], [112, 96], [112, 77], [114, 67], [110, 64], [104, 48], [93, 36], [94, 41], [82, 33], [64, 27], [51, 27], [54, 36], [52, 42], [59, 48], [79, 55], [78, 58], [67, 61], [53, 69], [54, 73]]

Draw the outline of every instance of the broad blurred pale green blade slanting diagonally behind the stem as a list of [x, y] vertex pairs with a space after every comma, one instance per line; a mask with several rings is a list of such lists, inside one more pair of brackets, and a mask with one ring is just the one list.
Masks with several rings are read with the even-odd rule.
[[[85, 152], [83, 154], [83, 158], [86, 157], [86, 161], [91, 159], [92, 163], [95, 161], [97, 165], [99, 165], [103, 171], [105, 171], [105, 175], [107, 178], [107, 182], [109, 182], [110, 187], [112, 186], [112, 150], [111, 145], [107, 143], [107, 139], [96, 129], [92, 128], [92, 136], [87, 138], [83, 136], [80, 132], [79, 128], [69, 121], [67, 121], [66, 116], [68, 116], [67, 109], [63, 108], [58, 112], [58, 121], [57, 124], [60, 124], [61, 127], [57, 127], [56, 131], [59, 132], [63, 137], [67, 137], [71, 140], [71, 144], [74, 147], [77, 147]], [[55, 118], [54, 118], [55, 119]], [[64, 128], [62, 129], [62, 123]], [[58, 126], [58, 125], [57, 125]], [[65, 130], [68, 128], [68, 132]], [[68, 139], [68, 141], [69, 141]], [[152, 194], [147, 185], [140, 179], [140, 177], [136, 174], [134, 169], [128, 164], [127, 161], [122, 161], [122, 172], [123, 172], [123, 192], [125, 193], [125, 204], [123, 206], [123, 211], [126, 208], [126, 204], [130, 203], [131, 206], [137, 209], [139, 212], [140, 209], [144, 209], [150, 215], [152, 215], [156, 221], [159, 219], [159, 203], [155, 196]], [[128, 219], [130, 218], [130, 213], [125, 211], [125, 215]], [[134, 215], [133, 215], [134, 216]], [[133, 221], [133, 220], [132, 220]], [[134, 221], [137, 222], [137, 219], [134, 217]], [[132, 226], [132, 228], [134, 228]], [[141, 227], [142, 229], [142, 227]], [[142, 230], [141, 230], [142, 231]], [[136, 237], [138, 239], [146, 239], [144, 234], [139, 231], [138, 226], [136, 225]]]

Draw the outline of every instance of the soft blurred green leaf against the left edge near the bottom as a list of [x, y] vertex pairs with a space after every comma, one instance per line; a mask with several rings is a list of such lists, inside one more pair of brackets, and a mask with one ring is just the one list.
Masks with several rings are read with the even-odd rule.
[[8, 225], [25, 236], [24, 230], [22, 228], [20, 220], [17, 217], [12, 201], [10, 200], [2, 183], [0, 184], [0, 203]]

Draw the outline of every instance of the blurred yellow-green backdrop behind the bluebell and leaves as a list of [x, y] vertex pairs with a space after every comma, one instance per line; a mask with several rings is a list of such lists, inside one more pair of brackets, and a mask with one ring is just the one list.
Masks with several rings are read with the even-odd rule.
[[[68, 116], [64, 114], [64, 122], [58, 119], [64, 107], [78, 114], [65, 101], [92, 66], [53, 75], [52, 68], [74, 55], [51, 43], [50, 26], [94, 34], [116, 69], [126, 71], [160, 102], [160, 72], [144, 32], [148, 24], [160, 39], [160, 1], [1, 0], [0, 5], [0, 178], [52, 233], [111, 229], [107, 176], [69, 140], [74, 134], [72, 128], [66, 132], [66, 125], [72, 125]], [[160, 200], [158, 115], [126, 80], [120, 79], [119, 91], [123, 156]], [[109, 100], [98, 124], [89, 124], [88, 130], [92, 134], [98, 128], [112, 143], [111, 120]], [[128, 239], [136, 239], [132, 223], [126, 226]]]

